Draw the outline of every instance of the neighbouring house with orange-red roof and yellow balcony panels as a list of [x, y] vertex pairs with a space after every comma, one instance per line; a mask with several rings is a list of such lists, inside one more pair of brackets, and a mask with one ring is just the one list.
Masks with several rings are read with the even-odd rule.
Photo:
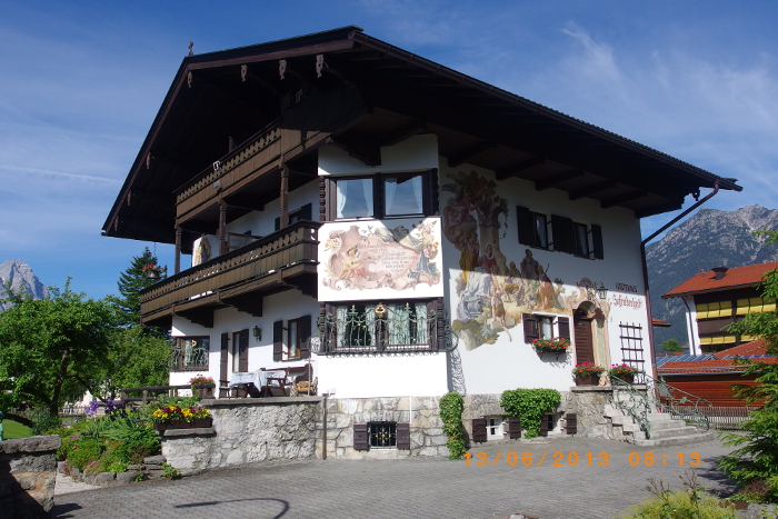
[[662, 296], [662, 299], [682, 298], [691, 353], [716, 352], [754, 340], [725, 328], [748, 313], [776, 309], [775, 301], [764, 301], [756, 288], [765, 273], [776, 268], [778, 262], [731, 269], [716, 267], [692, 276]]

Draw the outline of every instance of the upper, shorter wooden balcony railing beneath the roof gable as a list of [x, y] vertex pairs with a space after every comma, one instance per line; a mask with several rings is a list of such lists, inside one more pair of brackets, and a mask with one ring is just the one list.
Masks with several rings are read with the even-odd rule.
[[186, 214], [258, 169], [276, 162], [281, 151], [280, 120], [276, 120], [255, 133], [240, 149], [179, 188], [176, 191], [176, 216]]

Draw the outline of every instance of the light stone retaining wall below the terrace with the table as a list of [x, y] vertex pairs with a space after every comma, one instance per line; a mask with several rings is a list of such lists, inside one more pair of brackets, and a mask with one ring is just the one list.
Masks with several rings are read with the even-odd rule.
[[321, 401], [320, 397], [202, 400], [213, 415], [213, 428], [166, 431], [162, 456], [183, 473], [310, 458], [316, 452]]

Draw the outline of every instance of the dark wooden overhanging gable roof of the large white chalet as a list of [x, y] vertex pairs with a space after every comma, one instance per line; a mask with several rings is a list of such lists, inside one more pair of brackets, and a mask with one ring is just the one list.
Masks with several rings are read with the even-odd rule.
[[[496, 171], [500, 180], [518, 177], [535, 182], [538, 190], [561, 189], [572, 200], [591, 198], [638, 218], [679, 209], [687, 194], [717, 182], [720, 189], [742, 189], [736, 179], [715, 176], [350, 26], [184, 58], [103, 234], [172, 243], [173, 193], [181, 186], [225, 162], [228, 140], [247, 141], [277, 120], [285, 129], [310, 131], [299, 117], [285, 118], [289, 97], [302, 90], [326, 92], [333, 86], [351, 89], [365, 108], [365, 118], [331, 130], [340, 146], [378, 149], [413, 132], [433, 132], [449, 166], [471, 163]], [[310, 163], [297, 166], [306, 169]]]

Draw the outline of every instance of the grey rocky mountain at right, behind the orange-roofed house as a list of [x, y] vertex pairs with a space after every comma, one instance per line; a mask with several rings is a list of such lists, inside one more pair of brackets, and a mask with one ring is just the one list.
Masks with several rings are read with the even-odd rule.
[[686, 306], [680, 298], [661, 299], [691, 276], [714, 267], [744, 267], [778, 260], [778, 243], [766, 246], [756, 230], [778, 230], [778, 210], [748, 206], [737, 211], [700, 209], [646, 248], [651, 313], [671, 328], [655, 328], [657, 348], [667, 339], [688, 342]]

